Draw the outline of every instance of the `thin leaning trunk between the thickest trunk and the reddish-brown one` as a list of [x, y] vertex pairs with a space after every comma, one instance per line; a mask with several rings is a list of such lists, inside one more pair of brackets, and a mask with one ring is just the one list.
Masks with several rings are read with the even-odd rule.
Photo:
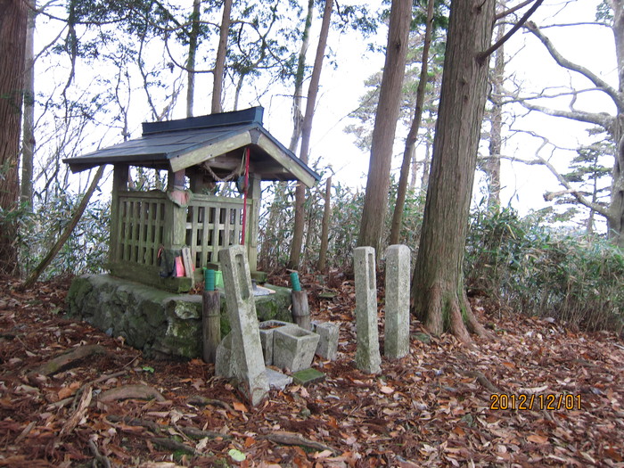
[[414, 111], [414, 119], [412, 126], [406, 138], [406, 147], [403, 152], [403, 162], [401, 163], [401, 172], [398, 177], [397, 202], [394, 205], [392, 213], [392, 225], [390, 226], [390, 244], [397, 244], [401, 234], [401, 226], [403, 225], [403, 208], [406, 202], [407, 193], [407, 177], [409, 177], [409, 166], [415, 153], [416, 138], [418, 130], [421, 127], [421, 119], [423, 118], [424, 92], [427, 86], [429, 48], [431, 46], [431, 33], [433, 32], [433, 6], [434, 0], [429, 0], [427, 4], [427, 24], [424, 30], [423, 58], [421, 60], [421, 76], [418, 81], [418, 89], [416, 90], [416, 108]]

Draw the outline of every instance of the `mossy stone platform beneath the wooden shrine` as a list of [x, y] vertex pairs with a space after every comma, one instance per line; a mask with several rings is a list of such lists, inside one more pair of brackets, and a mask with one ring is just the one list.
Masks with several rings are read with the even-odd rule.
[[[291, 290], [267, 285], [275, 294], [258, 296], [259, 321], [291, 322]], [[201, 357], [201, 296], [168, 291], [111, 275], [74, 278], [67, 295], [70, 316], [85, 320], [147, 353]], [[226, 300], [221, 296], [221, 336], [230, 332]]]

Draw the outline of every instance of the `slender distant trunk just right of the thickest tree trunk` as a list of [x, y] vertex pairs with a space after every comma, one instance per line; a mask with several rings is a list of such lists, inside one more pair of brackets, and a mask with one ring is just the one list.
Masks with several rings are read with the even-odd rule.
[[[499, 3], [500, 10], [505, 10], [505, 1]], [[497, 27], [497, 41], [505, 36], [505, 21]], [[505, 79], [505, 51], [501, 45], [494, 59], [494, 70], [491, 73], [492, 82], [492, 114], [489, 130], [489, 158], [485, 163], [485, 173], [488, 177], [488, 208], [500, 207], [500, 155], [503, 148], [503, 104], [500, 96], [503, 92]]]

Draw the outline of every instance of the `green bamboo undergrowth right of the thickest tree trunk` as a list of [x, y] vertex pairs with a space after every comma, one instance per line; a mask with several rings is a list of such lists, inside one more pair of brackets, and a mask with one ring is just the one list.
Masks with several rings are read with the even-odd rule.
[[500, 305], [588, 330], [624, 328], [624, 256], [597, 235], [545, 226], [513, 209], [472, 214], [466, 282]]

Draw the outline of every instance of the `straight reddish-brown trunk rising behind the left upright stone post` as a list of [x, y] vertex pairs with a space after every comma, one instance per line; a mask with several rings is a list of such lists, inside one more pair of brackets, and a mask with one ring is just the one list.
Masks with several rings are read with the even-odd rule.
[[405, 77], [411, 12], [411, 1], [392, 0], [386, 61], [375, 114], [364, 209], [357, 238], [357, 245], [374, 247], [377, 252], [381, 251], [383, 225], [388, 209], [390, 164]]

